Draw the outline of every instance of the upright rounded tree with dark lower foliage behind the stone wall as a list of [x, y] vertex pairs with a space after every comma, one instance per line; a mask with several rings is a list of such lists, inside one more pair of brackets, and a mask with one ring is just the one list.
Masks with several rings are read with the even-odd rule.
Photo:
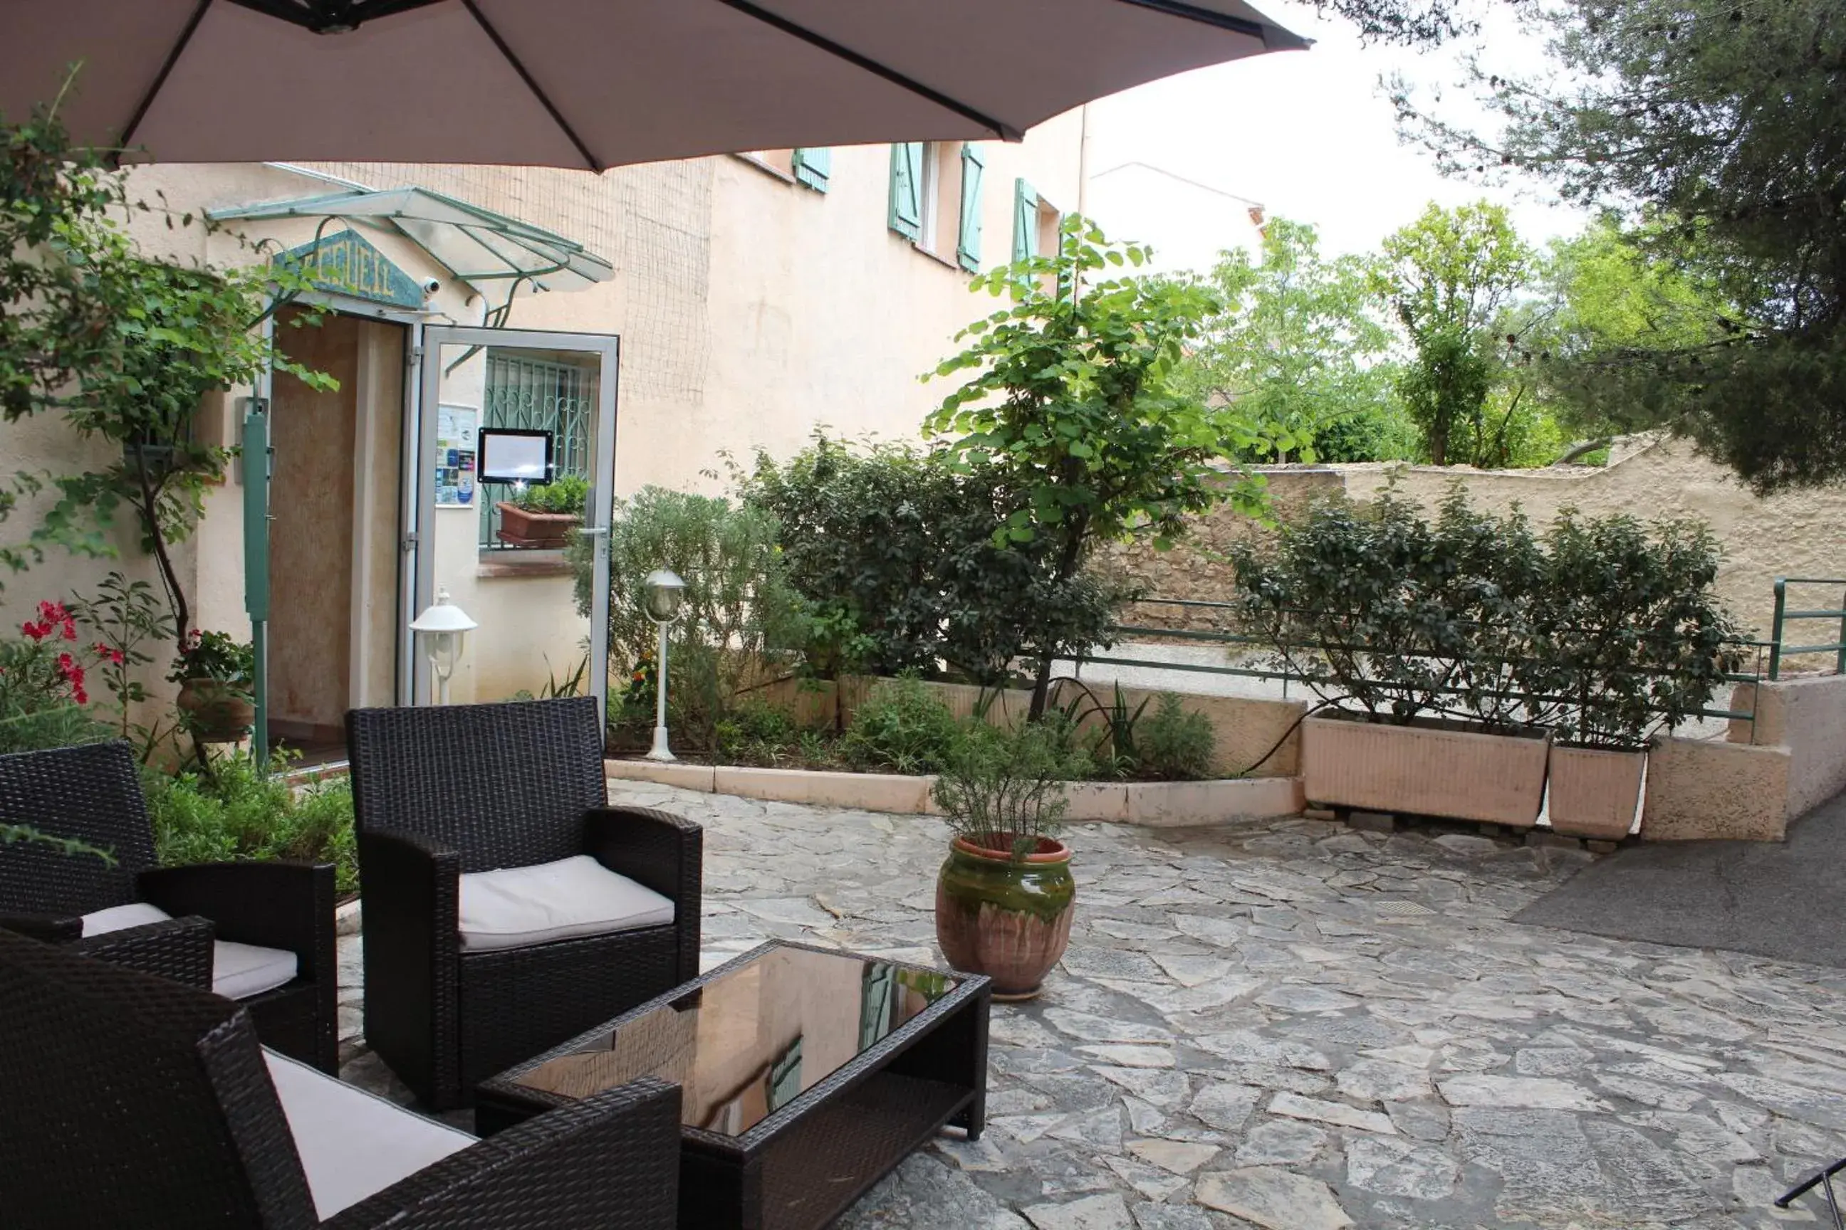
[[1434, 465], [1493, 465], [1488, 398], [1499, 361], [1495, 325], [1532, 273], [1499, 205], [1480, 201], [1423, 216], [1384, 240], [1377, 288], [1410, 341], [1397, 380]]

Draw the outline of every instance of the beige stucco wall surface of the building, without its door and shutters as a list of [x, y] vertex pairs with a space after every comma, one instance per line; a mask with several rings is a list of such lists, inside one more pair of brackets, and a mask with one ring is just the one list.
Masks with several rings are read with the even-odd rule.
[[[1023, 144], [986, 148], [986, 266], [1012, 254], [1017, 177], [1026, 177], [1050, 205], [1076, 207], [1080, 138], [1080, 118], [1073, 114], [1034, 129]], [[714, 491], [722, 478], [711, 472], [722, 470], [722, 454], [748, 459], [764, 446], [786, 455], [818, 424], [844, 435], [914, 439], [923, 415], [943, 395], [941, 385], [921, 384], [919, 373], [934, 367], [949, 352], [954, 330], [984, 308], [967, 293], [967, 273], [890, 232], [884, 146], [836, 149], [825, 194], [737, 157], [604, 175], [404, 164], [312, 170], [375, 188], [423, 184], [556, 231], [615, 264], [609, 282], [587, 290], [522, 293], [508, 323], [622, 337], [618, 494], [646, 483]], [[148, 199], [164, 197], [174, 212], [198, 214], [319, 194], [330, 184], [257, 164], [151, 166], [133, 173], [133, 190]], [[257, 258], [234, 234], [168, 229], [161, 214], [137, 214], [129, 225], [151, 254], [214, 264]], [[253, 240], [294, 247], [314, 238], [316, 219], [244, 227]], [[482, 323], [489, 304], [419, 249], [390, 234], [367, 231], [366, 238], [412, 278], [441, 282], [426, 304], [430, 323]], [[362, 404], [401, 396], [393, 376], [367, 363]], [[467, 402], [467, 378], [469, 373], [458, 373], [443, 400]], [[207, 408], [201, 415], [207, 435], [234, 443], [240, 393], [247, 391], [214, 398]], [[395, 645], [380, 642], [401, 621], [395, 594], [388, 594], [395, 583], [391, 509], [401, 492], [391, 472], [393, 439], [377, 417], [369, 426], [354, 441], [354, 467], [373, 478], [373, 503], [367, 513], [354, 500], [356, 524], [371, 531], [354, 544], [364, 594], [354, 603], [353, 636], [366, 651], [354, 656], [351, 677], [354, 697], [382, 703], [390, 699]], [[9, 470], [70, 474], [105, 459], [105, 448], [78, 443], [55, 419], [0, 424], [0, 463]], [[0, 526], [0, 538], [26, 538], [48, 503], [50, 496], [24, 500]], [[205, 509], [199, 531], [175, 551], [194, 623], [244, 636], [249, 621], [236, 479], [209, 492]], [[509, 577], [482, 566], [474, 553], [474, 509], [438, 511], [434, 533], [438, 583], [482, 625], [452, 682], [456, 701], [539, 690], [548, 675], [570, 669], [587, 633], [569, 577]], [[0, 620], [17, 625], [39, 597], [90, 592], [111, 568], [155, 581], [131, 533], [118, 529], [114, 546], [118, 559], [72, 559], [59, 551], [24, 575], [0, 577], [6, 583]], [[277, 575], [275, 601], [288, 603], [297, 581]], [[164, 675], [166, 653], [159, 649], [161, 669], [150, 668], [150, 682]]]

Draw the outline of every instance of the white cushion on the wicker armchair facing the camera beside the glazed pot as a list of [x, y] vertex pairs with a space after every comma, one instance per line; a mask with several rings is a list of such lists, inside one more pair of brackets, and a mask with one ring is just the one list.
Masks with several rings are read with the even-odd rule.
[[524, 948], [674, 920], [674, 904], [587, 854], [462, 876], [462, 948]]

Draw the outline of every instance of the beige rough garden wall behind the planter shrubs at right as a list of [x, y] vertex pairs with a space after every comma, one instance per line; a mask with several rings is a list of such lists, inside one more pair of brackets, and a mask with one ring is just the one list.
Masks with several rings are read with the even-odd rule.
[[[1346, 492], [1355, 500], [1375, 498], [1392, 479], [1403, 496], [1431, 509], [1447, 494], [1451, 483], [1462, 481], [1479, 507], [1508, 511], [1517, 505], [1540, 527], [1564, 507], [1576, 507], [1588, 516], [1608, 513], [1632, 513], [1641, 518], [1696, 516], [1709, 522], [1724, 546], [1719, 596], [1744, 629], [1765, 638], [1772, 623], [1778, 575], [1846, 575], [1846, 487], [1761, 498], [1730, 470], [1696, 455], [1682, 441], [1639, 441], [1632, 452], [1619, 455], [1608, 467], [1471, 470], [1370, 463], [1268, 467], [1263, 472], [1283, 516], [1331, 492]], [[1224, 597], [1231, 590], [1231, 572], [1213, 561], [1211, 551], [1250, 533], [1255, 533], [1255, 526], [1248, 518], [1220, 509], [1200, 518], [1194, 546], [1169, 553], [1137, 548], [1117, 551], [1115, 559], [1143, 577], [1159, 597]], [[1839, 597], [1837, 586], [1833, 590], [1809, 586], [1791, 590], [1791, 607], [1837, 607]], [[1789, 640], [1829, 642], [1837, 627], [1791, 625]], [[1831, 668], [1831, 662], [1807, 658], [1791, 666]]]

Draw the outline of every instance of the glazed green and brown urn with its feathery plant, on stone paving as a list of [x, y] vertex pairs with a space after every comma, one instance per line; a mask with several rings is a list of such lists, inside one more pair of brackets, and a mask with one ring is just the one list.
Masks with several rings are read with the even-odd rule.
[[1080, 760], [1061, 721], [1017, 732], [971, 721], [932, 787], [954, 834], [936, 876], [936, 942], [956, 970], [993, 979], [995, 999], [1037, 996], [1071, 942], [1076, 881], [1058, 821]]

